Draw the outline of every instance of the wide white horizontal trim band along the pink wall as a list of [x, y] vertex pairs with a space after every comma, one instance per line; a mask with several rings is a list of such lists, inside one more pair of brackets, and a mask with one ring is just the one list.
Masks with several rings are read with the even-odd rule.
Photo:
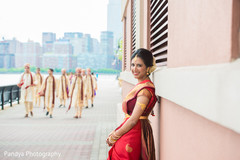
[[[126, 72], [120, 76], [136, 84], [131, 77]], [[153, 82], [157, 95], [240, 133], [240, 59], [207, 66], [158, 68]]]

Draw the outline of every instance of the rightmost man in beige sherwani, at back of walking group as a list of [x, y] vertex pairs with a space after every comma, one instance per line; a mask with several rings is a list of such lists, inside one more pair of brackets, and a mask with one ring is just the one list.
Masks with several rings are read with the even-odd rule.
[[85, 76], [85, 86], [84, 86], [84, 94], [85, 94], [85, 106], [88, 108], [88, 100], [91, 100], [91, 106], [93, 107], [94, 100], [94, 91], [96, 90], [96, 79], [91, 75], [90, 68], [87, 69], [87, 75]]

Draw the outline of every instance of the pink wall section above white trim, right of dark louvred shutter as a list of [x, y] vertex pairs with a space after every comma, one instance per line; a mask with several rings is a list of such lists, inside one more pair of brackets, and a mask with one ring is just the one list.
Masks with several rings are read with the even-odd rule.
[[239, 57], [239, 3], [169, 1], [168, 67], [224, 63]]

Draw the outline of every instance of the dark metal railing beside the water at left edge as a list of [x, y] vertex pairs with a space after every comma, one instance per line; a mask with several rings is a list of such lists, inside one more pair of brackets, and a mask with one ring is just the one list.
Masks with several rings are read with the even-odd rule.
[[21, 89], [17, 85], [0, 86], [0, 106], [4, 110], [5, 104], [16, 102], [19, 104]]

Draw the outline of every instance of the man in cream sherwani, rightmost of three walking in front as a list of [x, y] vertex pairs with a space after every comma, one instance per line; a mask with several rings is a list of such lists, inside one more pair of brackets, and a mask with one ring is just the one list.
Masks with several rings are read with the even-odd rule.
[[84, 98], [84, 84], [83, 78], [81, 76], [81, 68], [76, 68], [76, 75], [72, 79], [72, 85], [70, 89], [70, 105], [68, 110], [71, 108], [71, 105], [75, 107], [75, 116], [74, 118], [82, 117], [82, 107], [83, 107], [83, 98]]

